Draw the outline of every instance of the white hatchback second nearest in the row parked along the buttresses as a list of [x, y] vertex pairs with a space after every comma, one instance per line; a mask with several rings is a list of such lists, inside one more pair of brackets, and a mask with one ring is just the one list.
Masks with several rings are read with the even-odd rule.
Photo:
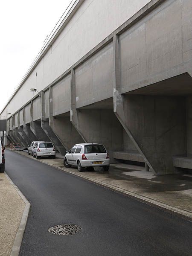
[[36, 142], [33, 149], [33, 157], [39, 159], [40, 157], [55, 158], [55, 148], [49, 141]]

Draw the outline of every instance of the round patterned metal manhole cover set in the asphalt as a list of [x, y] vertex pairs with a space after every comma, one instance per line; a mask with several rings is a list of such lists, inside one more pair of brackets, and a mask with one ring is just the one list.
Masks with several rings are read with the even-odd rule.
[[79, 233], [81, 230], [82, 227], [72, 224], [57, 225], [48, 229], [50, 233], [62, 236], [72, 236], [76, 233]]

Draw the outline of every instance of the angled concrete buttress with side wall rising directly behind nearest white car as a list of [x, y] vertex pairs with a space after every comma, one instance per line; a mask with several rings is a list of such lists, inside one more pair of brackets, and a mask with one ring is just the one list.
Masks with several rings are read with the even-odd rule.
[[84, 142], [105, 145], [113, 163], [113, 151], [123, 150], [123, 129], [113, 113], [112, 99], [92, 105], [91, 109], [76, 109], [75, 72], [71, 77], [71, 122]]

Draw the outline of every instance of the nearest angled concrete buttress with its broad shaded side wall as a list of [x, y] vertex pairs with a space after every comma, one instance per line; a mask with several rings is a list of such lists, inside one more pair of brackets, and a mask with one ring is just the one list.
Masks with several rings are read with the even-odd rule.
[[[157, 175], [177, 172], [173, 165], [175, 155], [186, 155], [186, 99], [178, 94], [160, 91], [165, 82], [143, 94], [121, 94], [120, 60], [118, 37], [114, 38], [114, 113], [137, 150], [143, 155], [146, 166]], [[166, 81], [166, 89], [171, 81]], [[161, 87], [162, 86], [162, 87]], [[182, 87], [182, 84], [181, 84]], [[156, 87], [157, 88], [157, 87]], [[147, 89], [145, 89], [147, 90]], [[171, 91], [171, 90], [170, 90]], [[148, 167], [146, 170], [148, 170]]]

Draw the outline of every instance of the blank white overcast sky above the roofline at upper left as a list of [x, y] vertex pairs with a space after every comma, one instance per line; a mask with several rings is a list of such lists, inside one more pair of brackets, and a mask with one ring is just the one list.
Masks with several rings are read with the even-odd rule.
[[9, 0], [0, 6], [0, 110], [71, 0]]

